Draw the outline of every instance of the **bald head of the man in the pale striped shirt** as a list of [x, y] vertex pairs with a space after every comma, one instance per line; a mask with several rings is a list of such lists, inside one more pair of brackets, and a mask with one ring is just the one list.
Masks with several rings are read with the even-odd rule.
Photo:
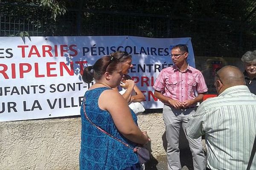
[[217, 73], [225, 88], [235, 85], [244, 85], [244, 74], [235, 66], [224, 66]]

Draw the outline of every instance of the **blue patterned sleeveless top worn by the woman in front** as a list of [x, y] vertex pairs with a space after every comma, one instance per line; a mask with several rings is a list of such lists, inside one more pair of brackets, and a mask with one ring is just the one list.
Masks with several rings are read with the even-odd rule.
[[[95, 88], [86, 91], [84, 94], [85, 103], [82, 103], [80, 110], [82, 126], [79, 156], [80, 170], [123, 170], [139, 162], [137, 154], [131, 148], [100, 131], [84, 116], [83, 105], [85, 104], [85, 111], [90, 121], [117, 139], [128, 143], [132, 147], [136, 146], [135, 143], [119, 133], [111, 114], [99, 108], [99, 96], [108, 89], [110, 88]], [[137, 125], [137, 116], [132, 110], [131, 114]]]

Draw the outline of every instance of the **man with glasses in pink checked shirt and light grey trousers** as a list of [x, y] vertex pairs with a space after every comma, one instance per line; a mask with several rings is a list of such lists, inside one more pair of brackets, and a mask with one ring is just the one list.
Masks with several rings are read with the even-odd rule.
[[[168, 170], [181, 170], [179, 135], [182, 126], [186, 134], [188, 116], [195, 113], [196, 105], [207, 92], [202, 73], [186, 62], [189, 51], [186, 45], [175, 45], [171, 51], [173, 66], [164, 68], [153, 88], [154, 96], [164, 103], [163, 121], [166, 125]], [[186, 136], [193, 157], [194, 170], [205, 170], [206, 162], [201, 137]]]

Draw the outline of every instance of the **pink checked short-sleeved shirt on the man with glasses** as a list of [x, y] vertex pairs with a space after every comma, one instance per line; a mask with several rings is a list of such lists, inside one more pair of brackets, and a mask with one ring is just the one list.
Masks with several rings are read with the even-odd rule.
[[164, 68], [158, 75], [153, 88], [166, 97], [184, 102], [194, 99], [195, 93], [207, 92], [203, 74], [191, 66], [181, 72], [176, 65]]

